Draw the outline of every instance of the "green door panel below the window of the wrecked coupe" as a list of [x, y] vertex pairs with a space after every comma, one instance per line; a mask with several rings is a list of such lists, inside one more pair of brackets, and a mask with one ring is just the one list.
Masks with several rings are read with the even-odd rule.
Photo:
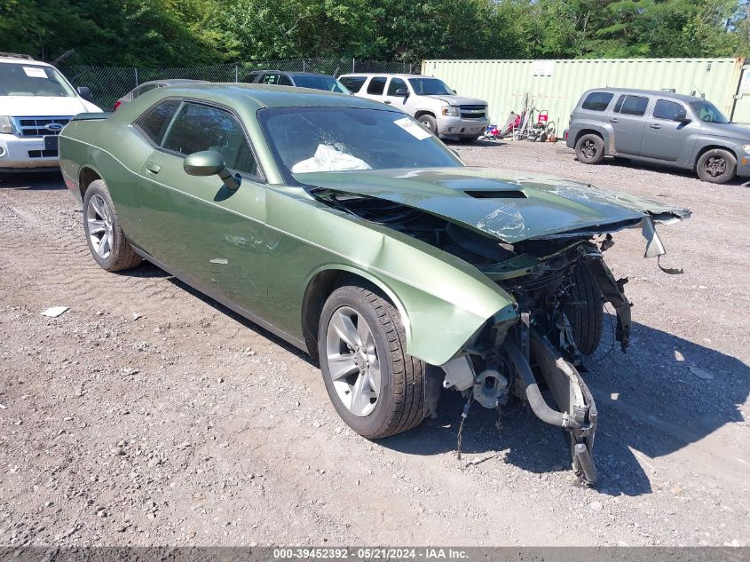
[[265, 186], [243, 178], [233, 192], [218, 176], [188, 176], [183, 161], [156, 150], [141, 170], [148, 252], [263, 318], [267, 310]]

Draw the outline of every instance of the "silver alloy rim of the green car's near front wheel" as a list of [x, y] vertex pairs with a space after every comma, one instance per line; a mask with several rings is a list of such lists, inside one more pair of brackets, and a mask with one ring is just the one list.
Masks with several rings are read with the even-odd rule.
[[350, 306], [328, 321], [326, 360], [336, 395], [354, 416], [368, 416], [381, 392], [380, 360], [372, 329]]

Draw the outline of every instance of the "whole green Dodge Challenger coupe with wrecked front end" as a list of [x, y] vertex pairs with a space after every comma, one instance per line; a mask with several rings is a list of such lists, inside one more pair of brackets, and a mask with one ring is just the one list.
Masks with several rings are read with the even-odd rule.
[[99, 265], [146, 259], [309, 352], [360, 435], [413, 428], [442, 389], [467, 408], [515, 395], [564, 429], [588, 484], [596, 405], [576, 366], [605, 301], [623, 351], [630, 333], [602, 252], [638, 227], [660, 256], [654, 225], [690, 216], [468, 167], [396, 109], [263, 84], [162, 88], [78, 115], [59, 154]]

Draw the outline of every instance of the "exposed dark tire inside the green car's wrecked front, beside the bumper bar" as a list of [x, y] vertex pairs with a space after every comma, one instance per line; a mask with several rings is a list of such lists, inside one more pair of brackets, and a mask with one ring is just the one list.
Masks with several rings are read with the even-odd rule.
[[571, 323], [573, 340], [581, 353], [591, 355], [602, 341], [604, 301], [586, 264], [579, 262], [573, 267], [569, 293], [572, 303], [565, 305], [564, 313]]

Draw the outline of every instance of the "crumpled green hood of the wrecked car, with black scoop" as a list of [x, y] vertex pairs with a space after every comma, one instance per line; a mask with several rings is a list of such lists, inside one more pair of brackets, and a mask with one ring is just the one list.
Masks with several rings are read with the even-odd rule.
[[[650, 217], [690, 211], [551, 176], [463, 167], [295, 174], [310, 188], [397, 202], [515, 243], [531, 238], [611, 233]], [[313, 194], [320, 193], [312, 189]]]

